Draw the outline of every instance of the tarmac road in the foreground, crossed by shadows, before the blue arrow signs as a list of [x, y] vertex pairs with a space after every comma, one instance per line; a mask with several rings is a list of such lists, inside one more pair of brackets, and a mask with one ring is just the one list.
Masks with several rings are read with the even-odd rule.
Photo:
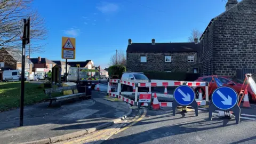
[[173, 116], [170, 108], [147, 110], [141, 121], [103, 143], [256, 143], [255, 120], [235, 124], [234, 119], [207, 118], [201, 110], [198, 117], [194, 111]]

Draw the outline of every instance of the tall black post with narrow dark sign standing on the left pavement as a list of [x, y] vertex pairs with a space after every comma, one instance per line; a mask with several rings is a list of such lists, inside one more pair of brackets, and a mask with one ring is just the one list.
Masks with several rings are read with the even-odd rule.
[[[20, 39], [22, 40], [21, 56], [21, 91], [20, 91], [20, 126], [23, 126], [24, 115], [24, 95], [25, 95], [25, 53], [26, 44], [29, 44], [30, 19], [21, 19], [20, 22]], [[28, 77], [29, 79], [29, 77]]]

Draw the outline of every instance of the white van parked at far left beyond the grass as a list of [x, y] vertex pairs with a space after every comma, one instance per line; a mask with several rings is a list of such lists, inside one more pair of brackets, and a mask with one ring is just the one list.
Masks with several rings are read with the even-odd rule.
[[3, 81], [20, 81], [21, 70], [4, 70]]

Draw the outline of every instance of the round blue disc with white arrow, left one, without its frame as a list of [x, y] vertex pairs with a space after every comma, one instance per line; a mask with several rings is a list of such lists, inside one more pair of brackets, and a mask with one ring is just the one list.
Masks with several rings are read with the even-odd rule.
[[195, 91], [187, 86], [178, 86], [173, 93], [175, 101], [177, 101], [182, 106], [188, 106], [195, 100]]

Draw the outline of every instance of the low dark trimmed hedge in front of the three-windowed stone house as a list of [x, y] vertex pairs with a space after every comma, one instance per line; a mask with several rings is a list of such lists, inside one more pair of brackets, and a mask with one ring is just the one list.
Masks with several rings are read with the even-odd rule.
[[144, 71], [143, 72], [149, 79], [160, 79], [160, 80], [173, 80], [173, 81], [195, 81], [199, 74], [194, 73], [165, 73], [155, 71]]

